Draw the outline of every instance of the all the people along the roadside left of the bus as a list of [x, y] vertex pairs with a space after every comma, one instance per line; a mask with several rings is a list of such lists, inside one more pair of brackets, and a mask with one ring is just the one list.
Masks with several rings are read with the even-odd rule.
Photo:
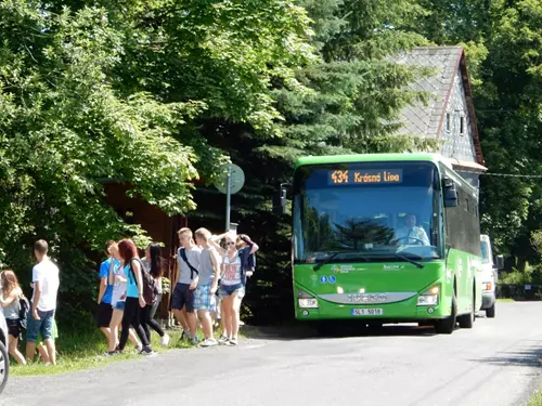
[[[236, 345], [240, 309], [246, 280], [255, 272], [258, 250], [246, 235], [234, 232], [214, 236], [206, 228], [178, 232], [179, 277], [170, 309], [182, 326], [183, 340], [194, 345]], [[56, 364], [54, 340], [59, 267], [48, 256], [48, 244], [36, 241], [31, 300], [27, 300], [12, 270], [0, 273], [0, 307], [8, 324], [9, 352], [20, 364], [34, 362], [36, 351], [46, 364]], [[167, 346], [170, 338], [154, 319], [162, 302], [164, 264], [158, 244], [151, 244], [140, 258], [134, 243], [125, 238], [106, 243], [107, 259], [100, 265], [98, 327], [107, 339], [106, 356], [122, 353], [130, 340], [140, 354], [153, 355], [151, 330]], [[220, 318], [222, 335], [216, 339], [214, 324]], [[201, 325], [204, 339], [196, 335]], [[26, 358], [18, 341], [26, 328]], [[120, 331], [120, 332], [119, 332]]]

